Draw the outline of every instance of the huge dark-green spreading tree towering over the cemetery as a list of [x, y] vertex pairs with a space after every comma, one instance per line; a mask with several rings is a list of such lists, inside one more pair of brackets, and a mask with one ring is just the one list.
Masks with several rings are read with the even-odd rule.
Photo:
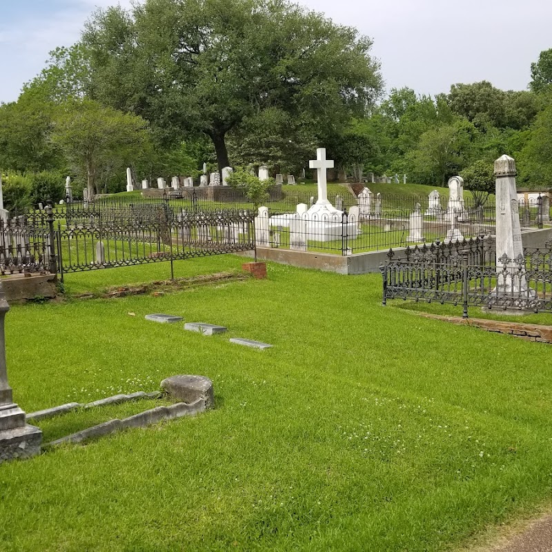
[[371, 39], [285, 0], [146, 0], [99, 10], [83, 33], [90, 95], [135, 112], [164, 141], [201, 132], [229, 163], [226, 136], [277, 106], [314, 134], [362, 114], [382, 88]]

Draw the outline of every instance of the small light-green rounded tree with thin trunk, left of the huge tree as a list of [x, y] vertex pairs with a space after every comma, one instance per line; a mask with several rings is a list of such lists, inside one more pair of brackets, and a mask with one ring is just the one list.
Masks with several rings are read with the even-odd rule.
[[99, 175], [132, 164], [149, 146], [147, 123], [99, 103], [83, 99], [61, 104], [52, 142], [86, 178], [89, 197], [99, 193]]

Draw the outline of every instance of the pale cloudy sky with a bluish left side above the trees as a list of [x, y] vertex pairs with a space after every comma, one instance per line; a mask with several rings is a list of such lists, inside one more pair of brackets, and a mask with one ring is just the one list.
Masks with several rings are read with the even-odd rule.
[[[13, 101], [48, 52], [79, 39], [97, 7], [117, 0], [0, 0], [0, 101]], [[120, 0], [129, 7], [131, 0]], [[552, 48], [550, 0], [299, 0], [374, 41], [387, 89], [448, 92], [488, 80], [524, 90], [531, 61]]]

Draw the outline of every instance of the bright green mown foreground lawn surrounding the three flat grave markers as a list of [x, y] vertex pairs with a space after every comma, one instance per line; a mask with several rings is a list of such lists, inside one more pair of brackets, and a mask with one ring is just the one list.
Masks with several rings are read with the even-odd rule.
[[[196, 259], [175, 272], [242, 262]], [[169, 270], [68, 275], [66, 288]], [[0, 550], [437, 551], [549, 502], [552, 346], [380, 299], [380, 275], [269, 264], [264, 281], [13, 306], [8, 374], [26, 411], [154, 391], [179, 373], [210, 377], [217, 408], [2, 464]], [[229, 331], [204, 337], [148, 313]], [[41, 427], [48, 442], [150, 406]]]

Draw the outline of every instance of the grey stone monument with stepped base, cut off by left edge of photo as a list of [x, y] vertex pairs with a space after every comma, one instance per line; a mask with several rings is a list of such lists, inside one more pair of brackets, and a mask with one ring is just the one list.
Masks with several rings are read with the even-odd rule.
[[8, 384], [4, 319], [9, 310], [0, 282], [0, 464], [39, 454], [42, 442], [42, 432], [26, 423], [25, 413], [13, 402], [12, 388]]

